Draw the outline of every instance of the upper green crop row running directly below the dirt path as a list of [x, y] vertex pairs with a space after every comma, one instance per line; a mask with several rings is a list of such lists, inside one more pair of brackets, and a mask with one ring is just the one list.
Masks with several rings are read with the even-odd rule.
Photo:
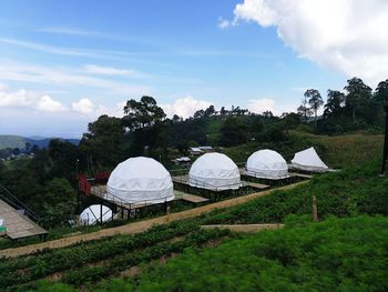
[[111, 259], [121, 253], [144, 249], [159, 242], [197, 231], [194, 222], [171, 223], [133, 235], [119, 235], [60, 250], [47, 250], [35, 255], [4, 260], [0, 263], [0, 286], [11, 286], [75, 269], [88, 263]]

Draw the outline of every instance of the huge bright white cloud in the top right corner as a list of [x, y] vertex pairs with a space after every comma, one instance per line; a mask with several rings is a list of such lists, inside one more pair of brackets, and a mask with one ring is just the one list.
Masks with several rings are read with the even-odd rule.
[[387, 79], [388, 1], [244, 0], [235, 19], [276, 27], [278, 37], [303, 58], [365, 79]]

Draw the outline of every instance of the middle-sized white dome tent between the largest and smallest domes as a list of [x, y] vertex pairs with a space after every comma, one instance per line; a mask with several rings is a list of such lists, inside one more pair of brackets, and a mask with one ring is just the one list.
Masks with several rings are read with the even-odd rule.
[[225, 154], [206, 153], [191, 167], [188, 184], [214, 191], [237, 190], [241, 187], [239, 171]]

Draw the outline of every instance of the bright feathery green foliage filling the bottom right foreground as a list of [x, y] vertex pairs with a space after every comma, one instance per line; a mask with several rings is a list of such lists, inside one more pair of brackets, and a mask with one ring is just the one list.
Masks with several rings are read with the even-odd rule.
[[132, 289], [385, 291], [387, 230], [387, 218], [359, 217], [264, 231], [216, 249], [186, 250], [132, 281]]

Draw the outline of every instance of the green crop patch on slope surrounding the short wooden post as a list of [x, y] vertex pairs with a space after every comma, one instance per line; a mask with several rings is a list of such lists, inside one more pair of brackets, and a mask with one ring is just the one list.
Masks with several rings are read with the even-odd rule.
[[289, 214], [312, 214], [312, 197], [317, 197], [318, 215], [388, 215], [388, 179], [378, 177], [376, 161], [338, 173], [314, 178], [308, 184], [289, 191], [275, 191], [246, 204], [216, 210], [207, 224], [273, 223]]

